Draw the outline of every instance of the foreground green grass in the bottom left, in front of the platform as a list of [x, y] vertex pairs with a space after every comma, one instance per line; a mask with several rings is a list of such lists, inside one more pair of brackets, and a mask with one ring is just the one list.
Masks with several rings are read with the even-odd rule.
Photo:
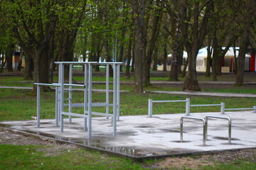
[[[131, 159], [109, 157], [98, 152], [75, 149], [46, 157], [33, 145], [0, 145], [0, 169], [144, 169]], [[42, 150], [42, 149], [41, 149]]]

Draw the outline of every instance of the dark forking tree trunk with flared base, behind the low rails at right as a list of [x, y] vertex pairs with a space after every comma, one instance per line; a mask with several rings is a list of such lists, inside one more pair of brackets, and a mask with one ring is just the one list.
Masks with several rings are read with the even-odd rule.
[[198, 50], [203, 45], [203, 40], [206, 38], [208, 19], [210, 17], [210, 12], [213, 9], [213, 0], [208, 1], [206, 4], [206, 11], [203, 16], [201, 26], [199, 26], [199, 2], [193, 1], [193, 24], [192, 24], [192, 38], [190, 42], [188, 37], [188, 20], [187, 18], [187, 8], [186, 3], [182, 5], [181, 9], [181, 31], [183, 35], [184, 45], [188, 52], [188, 74], [183, 84], [183, 91], [201, 91], [199, 87], [198, 80], [196, 77], [196, 56]]

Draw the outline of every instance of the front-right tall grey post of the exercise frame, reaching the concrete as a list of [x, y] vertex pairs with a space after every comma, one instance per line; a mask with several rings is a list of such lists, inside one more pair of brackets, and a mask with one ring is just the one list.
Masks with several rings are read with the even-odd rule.
[[117, 135], [117, 65], [113, 64], [113, 136]]

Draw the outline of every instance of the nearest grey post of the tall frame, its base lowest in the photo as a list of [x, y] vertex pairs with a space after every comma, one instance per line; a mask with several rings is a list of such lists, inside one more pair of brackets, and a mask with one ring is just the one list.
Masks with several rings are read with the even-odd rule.
[[92, 137], [92, 64], [88, 64], [88, 138]]

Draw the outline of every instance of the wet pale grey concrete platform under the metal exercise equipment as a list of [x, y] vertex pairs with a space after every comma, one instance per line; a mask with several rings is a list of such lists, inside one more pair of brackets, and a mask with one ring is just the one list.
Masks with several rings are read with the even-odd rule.
[[[64, 132], [55, 127], [55, 120], [41, 120], [41, 128], [36, 128], [36, 120], [4, 121], [0, 126], [134, 159], [256, 147], [256, 113], [252, 111], [221, 115], [232, 120], [231, 145], [228, 144], [228, 120], [221, 119], [208, 120], [206, 146], [203, 146], [203, 123], [184, 119], [183, 142], [180, 142], [180, 118], [183, 115], [122, 116], [117, 122], [116, 137], [112, 136], [111, 120], [93, 118], [91, 139], [87, 139], [87, 132], [82, 129], [82, 118], [73, 118], [73, 123], [65, 120]], [[200, 118], [206, 115], [220, 113], [191, 113]]]

